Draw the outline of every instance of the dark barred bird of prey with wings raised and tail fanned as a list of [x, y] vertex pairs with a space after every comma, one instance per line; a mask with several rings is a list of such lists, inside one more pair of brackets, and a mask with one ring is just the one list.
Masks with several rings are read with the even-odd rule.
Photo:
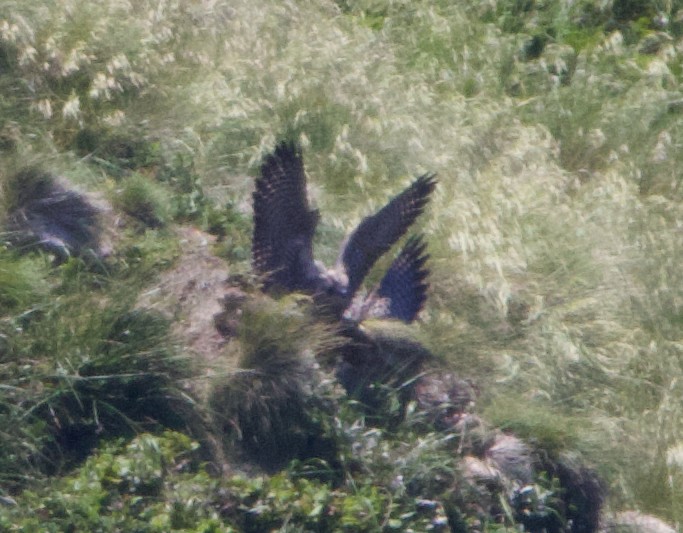
[[427, 254], [421, 237], [411, 237], [379, 286], [360, 303], [354, 295], [375, 262], [415, 222], [436, 186], [424, 174], [372, 216], [364, 218], [342, 244], [333, 269], [313, 259], [313, 235], [320, 219], [306, 193], [301, 149], [289, 142], [266, 156], [256, 180], [253, 267], [264, 289], [301, 291], [337, 318], [367, 316], [412, 322], [426, 299]]

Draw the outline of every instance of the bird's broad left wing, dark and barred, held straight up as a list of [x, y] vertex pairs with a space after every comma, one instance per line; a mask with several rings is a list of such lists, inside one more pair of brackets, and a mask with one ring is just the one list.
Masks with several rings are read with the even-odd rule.
[[261, 165], [256, 180], [252, 261], [265, 287], [306, 289], [315, 271], [313, 233], [318, 212], [306, 196], [301, 149], [282, 142]]

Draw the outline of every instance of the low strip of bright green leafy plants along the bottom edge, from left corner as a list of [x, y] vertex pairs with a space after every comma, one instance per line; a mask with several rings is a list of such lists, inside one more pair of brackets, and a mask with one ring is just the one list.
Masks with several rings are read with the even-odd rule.
[[438, 514], [373, 486], [334, 489], [293, 472], [212, 479], [196, 451], [195, 442], [173, 432], [109, 443], [73, 474], [26, 492], [15, 507], [1, 507], [0, 526], [36, 532], [425, 530]]

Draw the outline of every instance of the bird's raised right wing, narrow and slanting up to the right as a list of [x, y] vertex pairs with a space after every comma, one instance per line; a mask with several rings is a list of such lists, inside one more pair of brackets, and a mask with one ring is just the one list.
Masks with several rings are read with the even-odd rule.
[[420, 176], [377, 213], [364, 218], [349, 236], [337, 260], [337, 268], [348, 276], [349, 295], [356, 292], [372, 265], [415, 222], [435, 186], [435, 174]]

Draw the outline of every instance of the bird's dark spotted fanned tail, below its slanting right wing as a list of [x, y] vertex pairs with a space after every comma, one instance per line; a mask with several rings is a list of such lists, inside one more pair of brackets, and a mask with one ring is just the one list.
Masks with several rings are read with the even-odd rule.
[[429, 287], [426, 246], [421, 236], [411, 237], [384, 274], [375, 294], [380, 301], [386, 302], [382, 318], [410, 323], [422, 309]]

